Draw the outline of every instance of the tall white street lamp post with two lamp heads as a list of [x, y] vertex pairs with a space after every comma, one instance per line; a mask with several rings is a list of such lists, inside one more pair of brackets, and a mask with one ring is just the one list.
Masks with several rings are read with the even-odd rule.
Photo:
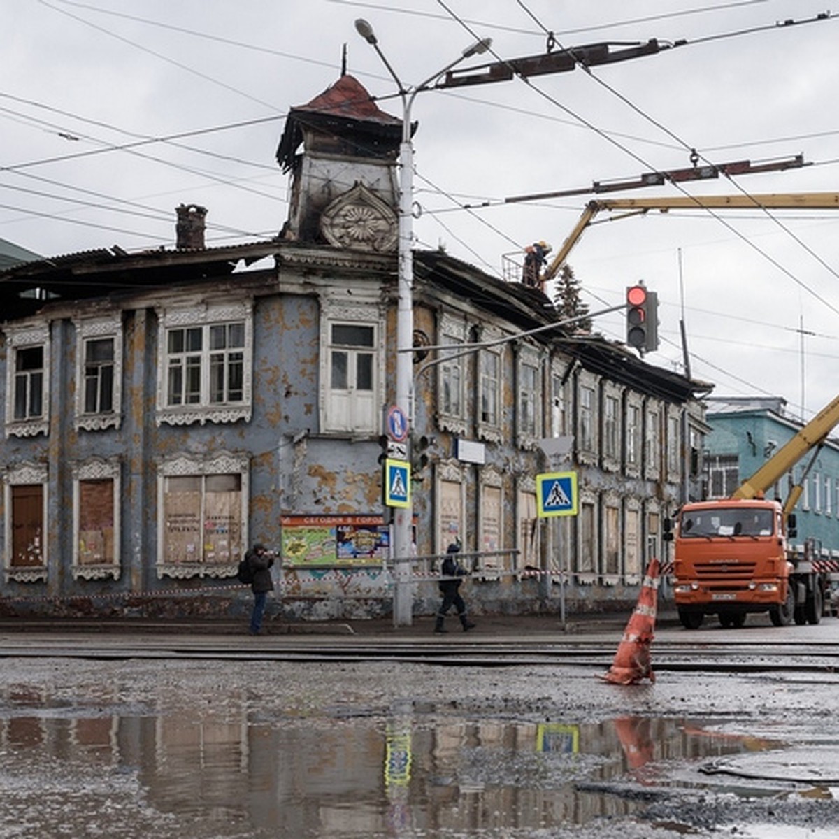
[[[399, 145], [399, 274], [398, 308], [396, 320], [396, 404], [408, 417], [409, 428], [414, 424], [414, 374], [411, 368], [411, 347], [414, 343], [414, 254], [411, 249], [413, 238], [412, 205], [414, 203], [414, 146], [411, 143], [411, 107], [414, 98], [426, 90], [432, 81], [451, 70], [462, 60], [486, 52], [492, 44], [491, 39], [477, 41], [463, 50], [454, 61], [449, 62], [422, 84], [406, 87], [396, 75], [387, 57], [378, 46], [373, 27], [362, 18], [356, 21], [356, 31], [371, 44], [382, 60], [388, 73], [399, 87], [402, 99], [402, 140]], [[410, 444], [409, 444], [410, 445]], [[396, 508], [393, 513], [393, 625], [411, 625], [411, 524], [413, 508], [409, 501], [407, 507]]]

